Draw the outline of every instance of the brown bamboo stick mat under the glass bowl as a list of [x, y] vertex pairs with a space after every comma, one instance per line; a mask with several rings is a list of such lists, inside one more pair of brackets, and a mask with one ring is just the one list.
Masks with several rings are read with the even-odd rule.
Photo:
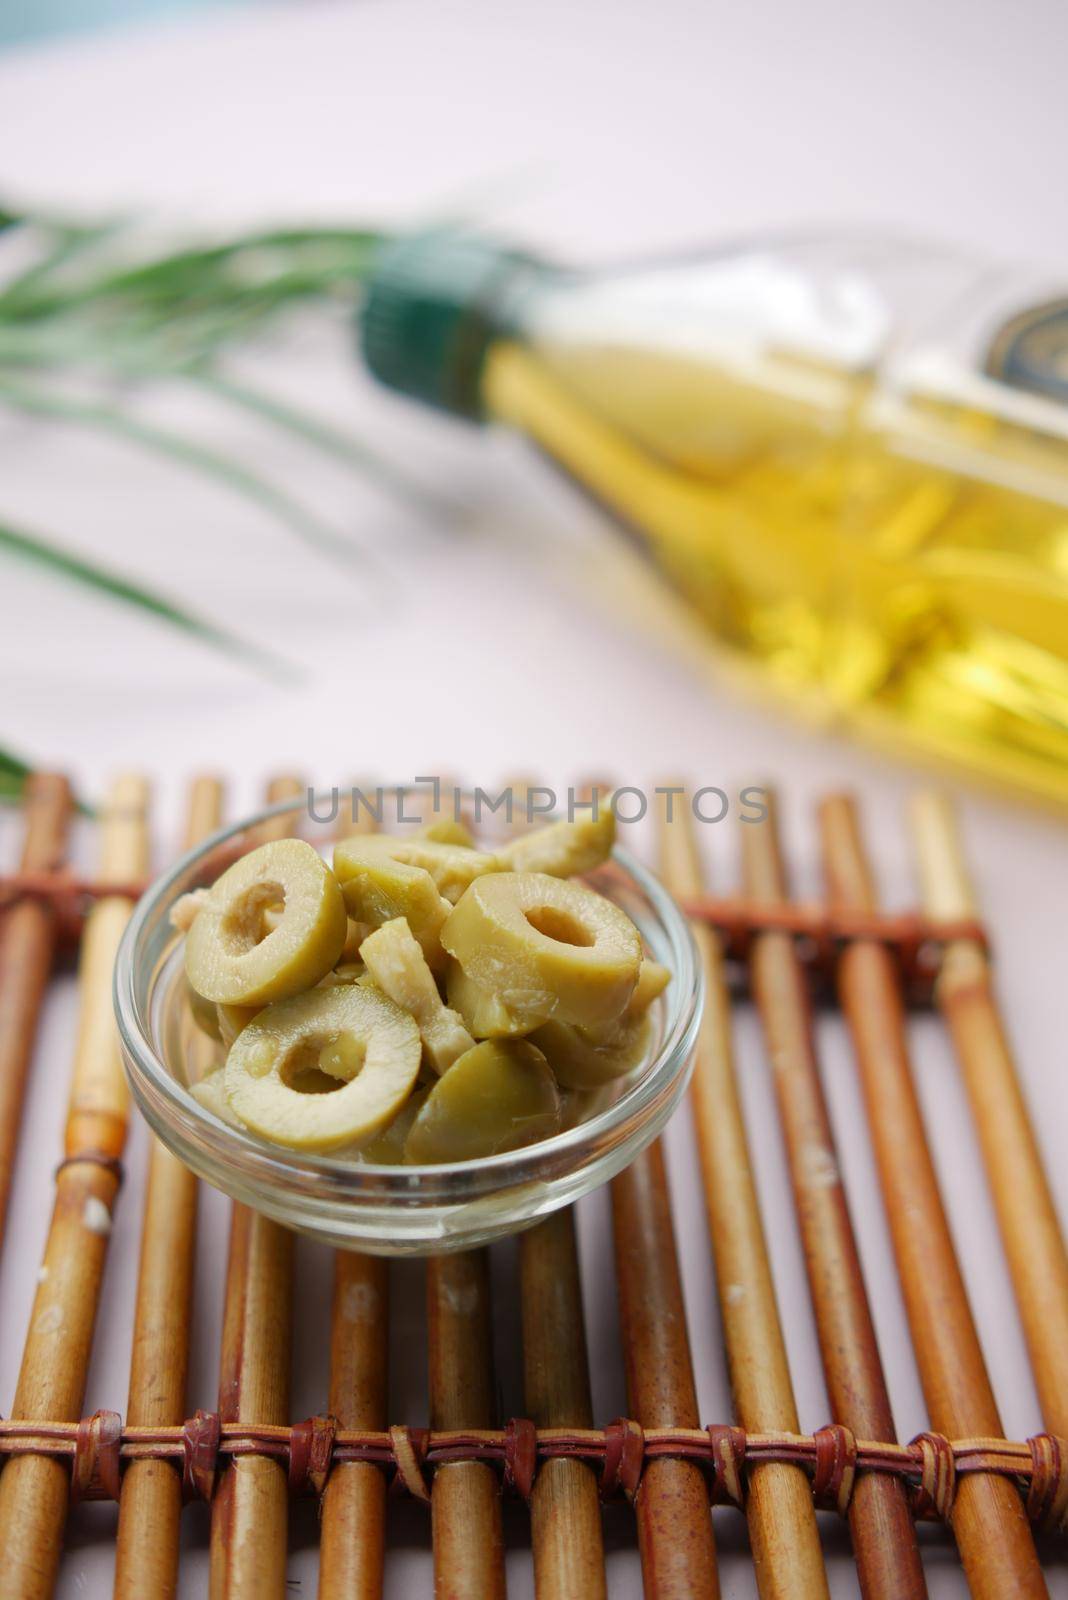
[[[187, 842], [222, 806], [192, 784]], [[74, 888], [72, 826], [43, 774], [0, 861], [5, 1597], [1063, 1587], [1068, 1264], [940, 802], [916, 805], [918, 910], [894, 917], [844, 797], [812, 827], [819, 906], [790, 899], [774, 806], [715, 830], [729, 882], [700, 829], [649, 827], [708, 981], [686, 1114], [574, 1213], [428, 1266], [331, 1258], [200, 1189], [136, 1114], [126, 1138], [110, 963], [161, 866], [149, 786], [77, 824]], [[969, 1171], [927, 1072], [959, 1074]], [[1002, 1438], [975, 1238], [943, 1203], [980, 1160], [1031, 1438]], [[56, 1162], [50, 1219], [29, 1174]], [[679, 1208], [699, 1194], [707, 1227]]]

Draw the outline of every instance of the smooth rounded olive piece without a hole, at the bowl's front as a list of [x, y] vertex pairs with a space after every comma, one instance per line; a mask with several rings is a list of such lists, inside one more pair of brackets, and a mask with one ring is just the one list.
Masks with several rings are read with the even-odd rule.
[[489, 1038], [430, 1090], [404, 1158], [416, 1165], [475, 1162], [548, 1139], [558, 1126], [560, 1093], [540, 1050], [524, 1038]]

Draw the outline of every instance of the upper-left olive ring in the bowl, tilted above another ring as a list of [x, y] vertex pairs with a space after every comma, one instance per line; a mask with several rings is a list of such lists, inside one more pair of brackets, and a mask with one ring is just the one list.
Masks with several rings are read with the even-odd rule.
[[331, 970], [347, 926], [321, 858], [301, 838], [273, 840], [208, 891], [185, 934], [185, 976], [205, 1000], [224, 1005], [285, 1000]]

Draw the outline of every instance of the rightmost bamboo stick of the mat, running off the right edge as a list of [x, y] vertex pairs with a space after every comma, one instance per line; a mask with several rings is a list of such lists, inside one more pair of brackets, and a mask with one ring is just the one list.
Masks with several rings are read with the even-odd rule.
[[[975, 902], [956, 821], [940, 795], [919, 795], [915, 838], [923, 907], [929, 917], [972, 917]], [[935, 998], [972, 1106], [994, 1198], [1042, 1421], [1068, 1438], [1068, 1254], [1012, 1059], [986, 955], [954, 939]]]

